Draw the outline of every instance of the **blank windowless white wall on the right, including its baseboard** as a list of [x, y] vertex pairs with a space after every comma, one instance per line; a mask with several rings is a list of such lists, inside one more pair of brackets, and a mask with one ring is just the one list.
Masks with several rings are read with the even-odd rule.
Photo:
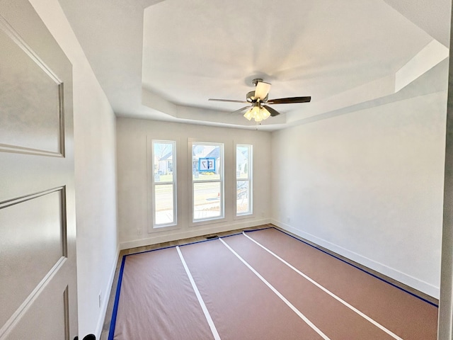
[[446, 91], [274, 132], [273, 222], [439, 297]]

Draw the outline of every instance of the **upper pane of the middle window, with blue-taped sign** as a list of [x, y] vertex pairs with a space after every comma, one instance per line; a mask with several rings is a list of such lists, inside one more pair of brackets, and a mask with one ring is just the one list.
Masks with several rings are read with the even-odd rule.
[[220, 145], [193, 144], [193, 181], [219, 181], [221, 156], [222, 154]]

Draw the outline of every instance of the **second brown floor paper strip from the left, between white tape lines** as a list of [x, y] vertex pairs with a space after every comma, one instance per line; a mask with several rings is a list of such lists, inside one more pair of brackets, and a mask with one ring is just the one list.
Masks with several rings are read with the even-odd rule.
[[222, 340], [322, 339], [218, 239], [180, 250]]

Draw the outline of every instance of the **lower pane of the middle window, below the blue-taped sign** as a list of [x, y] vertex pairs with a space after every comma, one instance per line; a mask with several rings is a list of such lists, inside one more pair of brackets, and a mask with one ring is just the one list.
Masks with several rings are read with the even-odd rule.
[[193, 219], [205, 220], [220, 217], [220, 182], [193, 183]]

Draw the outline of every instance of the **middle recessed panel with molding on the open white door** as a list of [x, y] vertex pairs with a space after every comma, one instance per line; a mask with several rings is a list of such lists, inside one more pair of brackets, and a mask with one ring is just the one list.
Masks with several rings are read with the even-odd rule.
[[67, 258], [65, 195], [60, 187], [0, 203], [0, 324]]

